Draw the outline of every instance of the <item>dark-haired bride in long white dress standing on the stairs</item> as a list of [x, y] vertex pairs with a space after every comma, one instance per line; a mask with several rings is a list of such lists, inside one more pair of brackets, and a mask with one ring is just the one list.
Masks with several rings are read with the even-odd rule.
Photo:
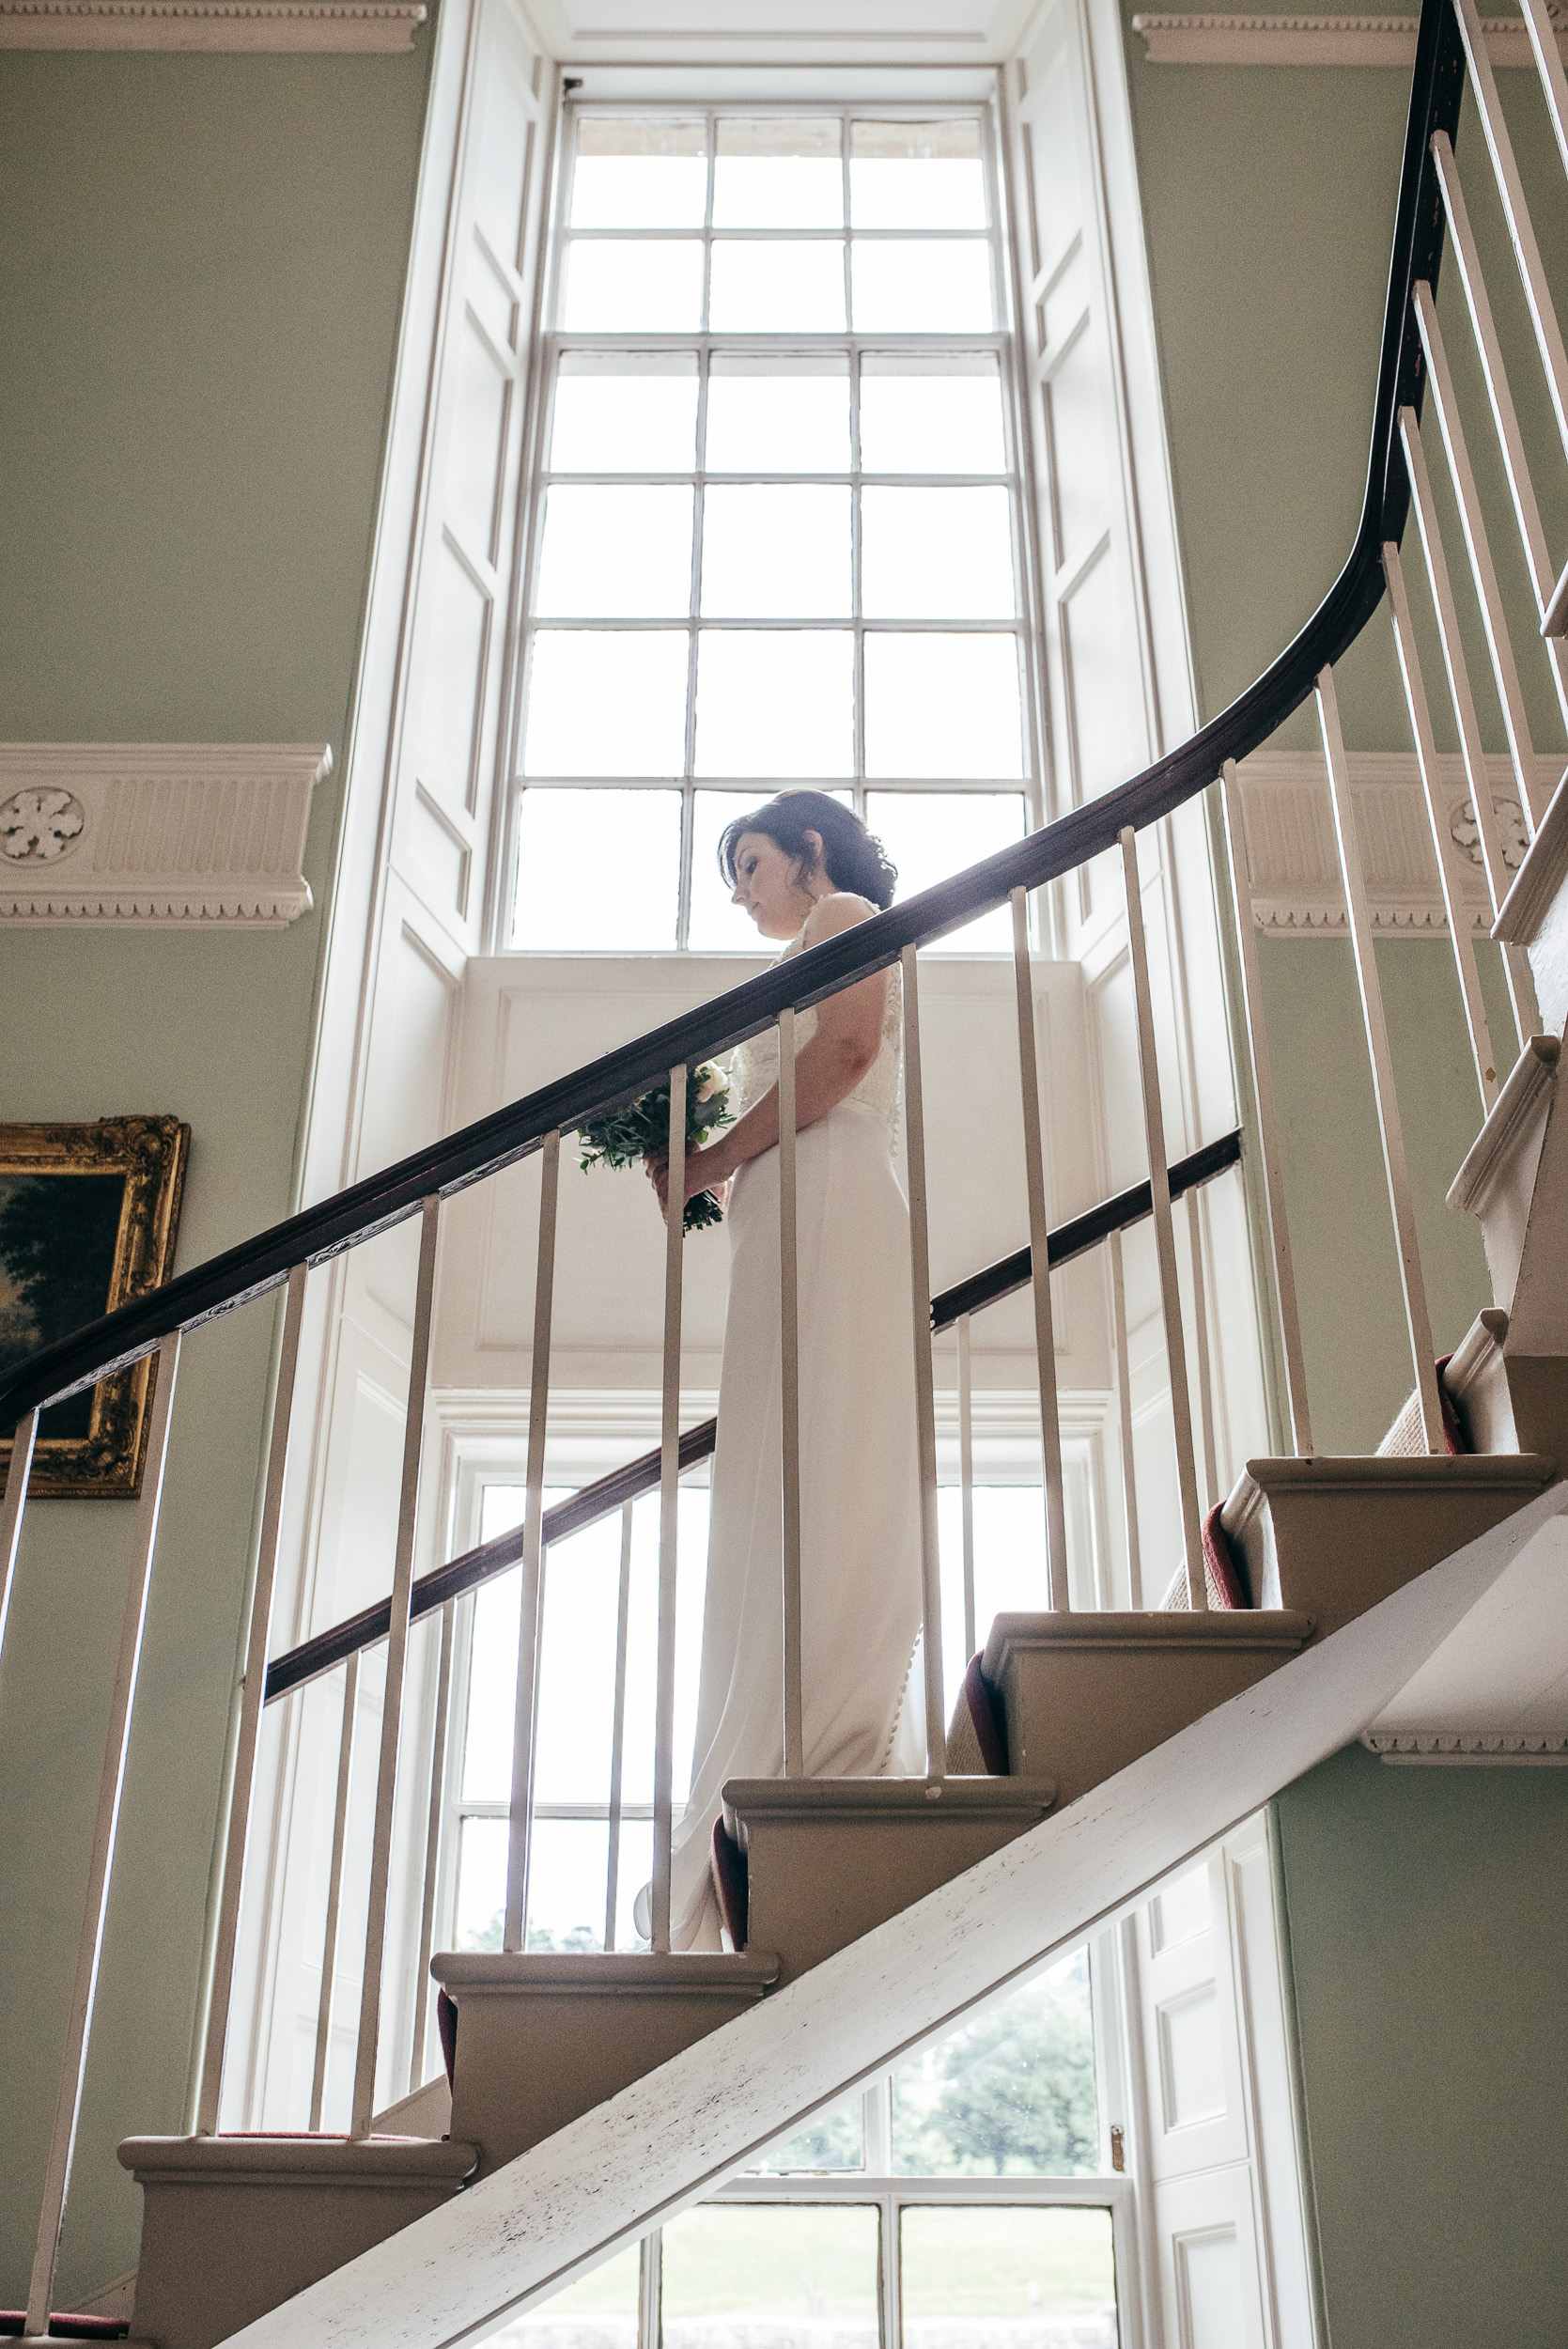
[[[735, 904], [784, 958], [892, 904], [894, 867], [850, 808], [784, 792], [718, 846]], [[812, 1778], [920, 1773], [920, 1482], [908, 1207], [894, 1167], [899, 972], [796, 1019], [800, 1297], [800, 1677]], [[685, 1196], [730, 1184], [730, 1308], [718, 1384], [690, 1802], [671, 1846], [671, 1947], [718, 1950], [709, 1853], [730, 1778], [784, 1773], [779, 1400], [779, 1038], [730, 1066], [735, 1123], [685, 1158]], [[664, 1212], [667, 1165], [648, 1160]]]

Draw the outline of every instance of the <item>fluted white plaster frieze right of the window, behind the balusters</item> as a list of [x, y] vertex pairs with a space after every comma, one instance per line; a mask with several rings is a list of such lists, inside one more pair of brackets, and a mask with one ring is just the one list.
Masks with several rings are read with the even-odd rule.
[[[1537, 759], [1542, 780], [1556, 759]], [[1486, 761], [1493, 808], [1509, 869], [1523, 857], [1523, 817], [1507, 759]], [[1476, 841], [1465, 763], [1439, 759], [1448, 832], [1465, 855], [1465, 904], [1476, 937], [1491, 930], [1491, 900]], [[1261, 749], [1239, 766], [1242, 839], [1253, 893], [1253, 918], [1279, 937], [1345, 935], [1345, 893], [1333, 839], [1329, 778], [1317, 752]], [[1448, 930], [1437, 879], [1427, 799], [1413, 752], [1352, 752], [1350, 789], [1357, 806], [1366, 897], [1378, 930], [1441, 937]]]

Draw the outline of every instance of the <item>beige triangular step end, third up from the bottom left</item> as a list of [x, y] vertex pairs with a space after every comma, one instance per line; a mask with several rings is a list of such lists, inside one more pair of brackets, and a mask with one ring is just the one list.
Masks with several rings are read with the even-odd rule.
[[1045, 1816], [746, 1818], [746, 1931], [793, 1980]]

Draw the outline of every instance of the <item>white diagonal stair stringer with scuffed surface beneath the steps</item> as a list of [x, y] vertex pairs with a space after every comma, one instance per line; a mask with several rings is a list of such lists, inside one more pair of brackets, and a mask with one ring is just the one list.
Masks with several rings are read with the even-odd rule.
[[230, 2349], [455, 2349], [676, 2217], [1357, 1738], [1563, 1515], [1568, 1482]]

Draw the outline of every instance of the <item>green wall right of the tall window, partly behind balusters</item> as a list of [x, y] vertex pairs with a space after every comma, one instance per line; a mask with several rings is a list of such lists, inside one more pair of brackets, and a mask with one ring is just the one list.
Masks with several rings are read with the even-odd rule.
[[[1131, 14], [1131, 9], [1127, 9]], [[1359, 519], [1378, 376], [1408, 75], [1385, 68], [1150, 66], [1127, 31], [1127, 70], [1164, 376], [1176, 514], [1199, 714], [1218, 714], [1289, 644], [1340, 571]], [[1549, 268], [1568, 308], [1568, 188], [1535, 78], [1505, 73], [1505, 106]], [[1516, 294], [1481, 129], [1458, 136], [1488, 284], [1549, 543], [1568, 543], [1568, 470]], [[1535, 745], [1563, 745], [1500, 460], [1493, 456], [1458, 272], [1439, 280], [1444, 338], [1467, 406], [1472, 456], [1514, 613]], [[1437, 428], [1427, 453], [1453, 521]], [[1448, 533], [1460, 557], [1458, 526]], [[1441, 653], [1411, 526], [1404, 568], [1439, 745], [1458, 749]], [[1491, 749], [1505, 749], [1486, 644], [1460, 580], [1467, 660]], [[1411, 749], [1392, 632], [1380, 611], [1338, 667], [1352, 749]], [[1279, 747], [1317, 747], [1307, 705]], [[1500, 1066], [1516, 1038], [1486, 951]], [[1366, 1452], [1411, 1393], [1399, 1264], [1347, 942], [1263, 940], [1263, 987], [1282, 1097], [1291, 1245], [1303, 1292], [1307, 1391], [1319, 1449]], [[1444, 1193], [1479, 1123], [1479, 1092], [1446, 942], [1378, 949], [1390, 1041], [1418, 1191], [1422, 1266], [1439, 1353], [1491, 1304], [1479, 1231]]]

